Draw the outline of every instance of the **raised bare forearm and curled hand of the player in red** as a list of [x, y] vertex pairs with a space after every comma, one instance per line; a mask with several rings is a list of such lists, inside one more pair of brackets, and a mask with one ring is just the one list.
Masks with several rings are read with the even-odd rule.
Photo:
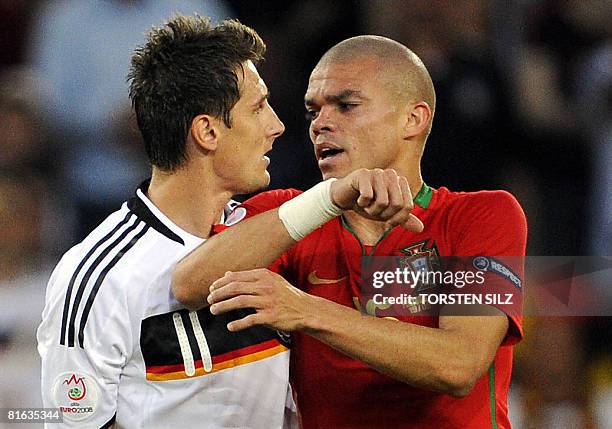
[[[393, 170], [354, 171], [335, 181], [330, 194], [330, 203], [342, 210], [385, 221], [388, 227], [404, 225], [415, 232], [423, 229], [410, 213], [413, 202], [407, 180]], [[294, 214], [312, 216], [309, 210], [297, 208], [292, 208]], [[206, 305], [210, 285], [227, 271], [272, 264], [299, 239], [288, 232], [282, 217], [275, 208], [206, 240], [179, 262], [173, 273], [172, 289], [177, 300], [189, 309], [199, 309]]]

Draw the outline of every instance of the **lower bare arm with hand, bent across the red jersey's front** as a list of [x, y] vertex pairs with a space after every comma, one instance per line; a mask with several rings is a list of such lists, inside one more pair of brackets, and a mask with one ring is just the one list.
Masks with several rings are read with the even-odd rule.
[[257, 310], [230, 323], [231, 331], [255, 325], [300, 330], [397, 380], [458, 397], [485, 373], [508, 329], [507, 316], [490, 306], [470, 306], [478, 316], [443, 313], [439, 328], [366, 316], [264, 269], [227, 274], [211, 290], [213, 314]]

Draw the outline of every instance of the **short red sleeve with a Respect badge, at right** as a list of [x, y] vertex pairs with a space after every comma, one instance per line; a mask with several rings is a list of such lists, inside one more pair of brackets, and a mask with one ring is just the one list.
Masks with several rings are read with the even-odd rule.
[[[462, 292], [482, 288], [490, 305], [504, 312], [510, 321], [504, 343], [523, 337], [522, 311], [524, 257], [527, 220], [518, 201], [505, 191], [469, 194], [459, 202], [449, 219], [456, 231], [453, 255], [469, 258], [472, 268], [483, 271], [484, 285], [465, 287]], [[483, 292], [483, 289], [478, 289]], [[510, 304], [511, 303], [511, 304]]]

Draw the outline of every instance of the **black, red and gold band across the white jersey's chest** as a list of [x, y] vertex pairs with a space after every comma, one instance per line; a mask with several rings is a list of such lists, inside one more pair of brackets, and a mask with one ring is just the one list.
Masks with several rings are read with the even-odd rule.
[[[213, 316], [208, 308], [197, 312], [182, 309], [143, 320], [140, 345], [147, 380], [179, 380], [213, 374], [288, 350], [289, 343], [268, 328], [227, 330], [230, 321], [249, 313], [241, 310]], [[176, 319], [180, 319], [178, 323]], [[198, 330], [204, 340], [198, 341]], [[211, 363], [208, 371], [204, 364], [207, 356]]]

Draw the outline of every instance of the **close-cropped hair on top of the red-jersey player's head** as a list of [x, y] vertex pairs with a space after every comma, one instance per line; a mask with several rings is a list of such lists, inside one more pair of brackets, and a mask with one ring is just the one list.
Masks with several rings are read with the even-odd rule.
[[[382, 36], [357, 36], [343, 40], [328, 50], [315, 67], [318, 70], [334, 64], [375, 59], [379, 78], [399, 102], [425, 101], [433, 113], [436, 93], [423, 61], [401, 43]], [[431, 127], [431, 124], [430, 124]]]

